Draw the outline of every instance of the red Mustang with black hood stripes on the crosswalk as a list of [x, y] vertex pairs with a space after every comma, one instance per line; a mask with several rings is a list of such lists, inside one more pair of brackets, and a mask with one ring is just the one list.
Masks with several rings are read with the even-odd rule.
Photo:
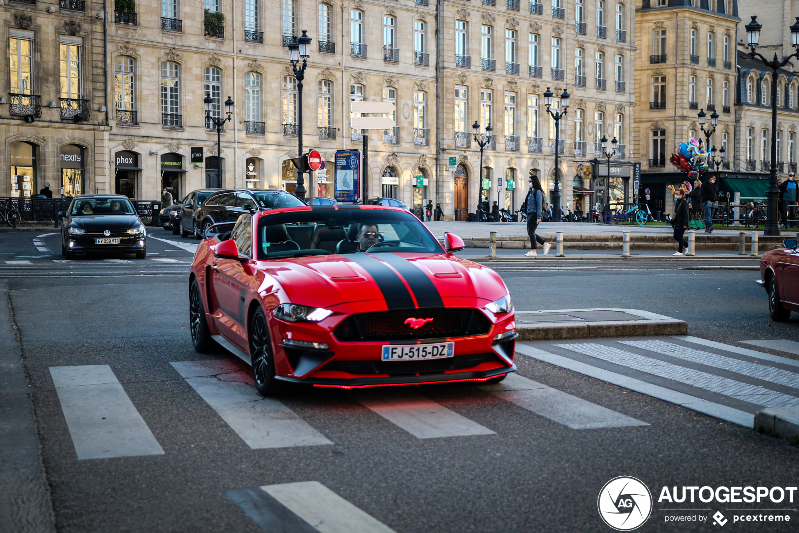
[[194, 348], [221, 344], [251, 364], [264, 396], [497, 382], [516, 369], [503, 280], [403, 209], [303, 206], [217, 226], [189, 276]]

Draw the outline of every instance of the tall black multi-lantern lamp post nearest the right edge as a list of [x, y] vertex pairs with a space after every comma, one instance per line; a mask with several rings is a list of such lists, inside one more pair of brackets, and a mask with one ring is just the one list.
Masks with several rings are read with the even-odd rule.
[[767, 206], [764, 234], [779, 235], [779, 207], [777, 203], [780, 196], [780, 190], [777, 188], [777, 70], [785, 66], [791, 58], [799, 58], [799, 17], [797, 17], [797, 22], [790, 26], [791, 44], [797, 51], [782, 59], [782, 61], [777, 59], [776, 53], [774, 58], [769, 61], [755, 51], [760, 44], [760, 30], [762, 27], [763, 25], [757, 22], [757, 16], [753, 15], [752, 20], [745, 26], [746, 44], [749, 46], [749, 56], [751, 58], [760, 58], [765, 66], [774, 71], [774, 75], [771, 77], [771, 171], [769, 172], [769, 189], [765, 192]]

